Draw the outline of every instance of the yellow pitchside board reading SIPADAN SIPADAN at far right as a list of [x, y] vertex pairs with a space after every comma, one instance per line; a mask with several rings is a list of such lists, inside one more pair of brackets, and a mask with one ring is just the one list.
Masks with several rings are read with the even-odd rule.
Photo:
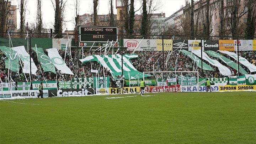
[[256, 90], [256, 85], [225, 85], [219, 86], [219, 91], [248, 91], [248, 90]]

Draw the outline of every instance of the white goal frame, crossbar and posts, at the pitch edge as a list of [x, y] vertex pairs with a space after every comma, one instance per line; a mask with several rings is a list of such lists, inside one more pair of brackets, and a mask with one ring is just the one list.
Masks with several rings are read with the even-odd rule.
[[[177, 76], [182, 76], [182, 73], [195, 73], [195, 76], [197, 75], [197, 85], [195, 86], [197, 87], [197, 91], [199, 91], [199, 72], [198, 71], [144, 71], [143, 81], [145, 81], [145, 74], [148, 74], [148, 73], [175, 73], [176, 79], [177, 79]], [[180, 75], [177, 75], [177, 73]], [[180, 86], [182, 87], [182, 84], [180, 84]]]

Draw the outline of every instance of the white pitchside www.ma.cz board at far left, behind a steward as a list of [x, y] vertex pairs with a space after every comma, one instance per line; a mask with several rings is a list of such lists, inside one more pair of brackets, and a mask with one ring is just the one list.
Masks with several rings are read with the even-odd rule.
[[[38, 90], [1, 91], [0, 98], [37, 98]], [[43, 90], [43, 97], [48, 97], [48, 90]]]

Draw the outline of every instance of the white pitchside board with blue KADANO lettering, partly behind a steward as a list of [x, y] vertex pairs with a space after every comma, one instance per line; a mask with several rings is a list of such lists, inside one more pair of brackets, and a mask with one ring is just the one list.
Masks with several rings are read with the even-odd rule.
[[[219, 86], [211, 86], [212, 92], [218, 92]], [[206, 86], [182, 86], [182, 92], [206, 92]]]

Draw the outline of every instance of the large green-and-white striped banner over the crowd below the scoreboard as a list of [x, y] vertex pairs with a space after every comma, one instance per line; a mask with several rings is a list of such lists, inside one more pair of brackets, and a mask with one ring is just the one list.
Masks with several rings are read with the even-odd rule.
[[[91, 55], [84, 59], [80, 59], [81, 62], [87, 63], [89, 61], [97, 61], [105, 69], [110, 70], [113, 76], [122, 75], [124, 79], [140, 79], [143, 78], [143, 73], [135, 69], [129, 59], [137, 58], [137, 54], [123, 54], [123, 67], [122, 67], [122, 55], [120, 54], [108, 54], [108, 55]], [[144, 75], [148, 77], [150, 75]]]

